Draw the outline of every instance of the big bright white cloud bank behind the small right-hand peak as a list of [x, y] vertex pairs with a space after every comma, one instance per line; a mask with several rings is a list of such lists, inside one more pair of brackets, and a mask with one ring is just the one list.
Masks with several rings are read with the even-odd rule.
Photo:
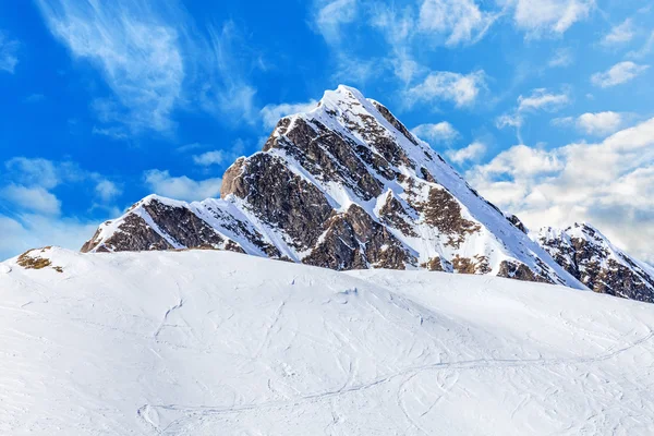
[[467, 175], [531, 228], [588, 220], [634, 255], [654, 261], [654, 119], [595, 144], [516, 146]]

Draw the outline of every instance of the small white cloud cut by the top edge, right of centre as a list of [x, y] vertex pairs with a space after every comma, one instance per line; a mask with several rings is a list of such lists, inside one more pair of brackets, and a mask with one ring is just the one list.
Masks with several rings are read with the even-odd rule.
[[506, 0], [514, 5], [516, 26], [537, 37], [561, 35], [572, 24], [584, 20], [595, 5], [594, 0]]

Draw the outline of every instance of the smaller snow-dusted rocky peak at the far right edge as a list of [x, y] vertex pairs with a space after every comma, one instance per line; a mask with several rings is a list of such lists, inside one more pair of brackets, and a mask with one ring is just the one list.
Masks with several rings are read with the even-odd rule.
[[544, 228], [533, 238], [593, 291], [654, 302], [654, 268], [614, 246], [592, 226], [576, 223], [565, 230]]

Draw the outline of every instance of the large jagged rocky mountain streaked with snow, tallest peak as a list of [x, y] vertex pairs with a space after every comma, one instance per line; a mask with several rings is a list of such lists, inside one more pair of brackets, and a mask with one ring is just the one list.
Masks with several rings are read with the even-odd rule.
[[[377, 101], [326, 92], [225, 173], [221, 198], [148, 196], [84, 252], [207, 247], [339, 270], [427, 269], [583, 288]], [[518, 223], [517, 223], [518, 222]], [[522, 228], [523, 229], [523, 228]]]

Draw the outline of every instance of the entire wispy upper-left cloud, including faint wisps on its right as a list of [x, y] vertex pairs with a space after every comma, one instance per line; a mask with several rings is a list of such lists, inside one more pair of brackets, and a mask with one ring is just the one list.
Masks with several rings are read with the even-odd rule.
[[36, 1], [52, 35], [95, 65], [112, 92], [93, 104], [107, 124], [96, 133], [116, 137], [126, 126], [170, 134], [175, 110], [197, 106], [226, 120], [256, 113], [233, 23], [203, 33], [174, 0]]

